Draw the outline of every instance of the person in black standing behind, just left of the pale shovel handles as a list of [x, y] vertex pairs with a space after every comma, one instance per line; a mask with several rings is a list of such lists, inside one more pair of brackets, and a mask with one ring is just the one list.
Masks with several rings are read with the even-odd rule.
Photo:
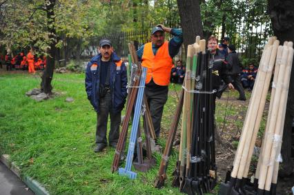
[[238, 100], [246, 101], [246, 96], [241, 83], [242, 67], [240, 66], [238, 54], [235, 45], [228, 45], [228, 56], [226, 57], [228, 74], [233, 79], [234, 88], [239, 92]]

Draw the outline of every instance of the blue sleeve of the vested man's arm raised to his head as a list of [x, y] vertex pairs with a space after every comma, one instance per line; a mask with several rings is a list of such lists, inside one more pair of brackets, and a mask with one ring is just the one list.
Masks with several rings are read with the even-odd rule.
[[170, 30], [170, 34], [175, 36], [168, 41], [168, 51], [170, 57], [173, 58], [179, 52], [179, 48], [181, 48], [183, 43], [183, 32], [181, 28], [172, 28], [172, 30]]

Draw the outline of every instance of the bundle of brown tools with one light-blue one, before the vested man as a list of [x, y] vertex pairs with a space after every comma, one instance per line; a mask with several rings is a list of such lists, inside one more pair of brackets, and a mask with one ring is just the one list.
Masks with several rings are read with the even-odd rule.
[[[154, 158], [151, 156], [150, 141], [155, 139], [155, 131], [153, 128], [152, 119], [150, 116], [150, 110], [148, 108], [147, 100], [144, 97], [144, 85], [146, 79], [146, 68], [141, 68], [141, 64], [137, 59], [137, 54], [135, 52], [135, 47], [133, 44], [129, 44], [130, 57], [129, 63], [132, 64], [132, 70], [130, 73], [130, 82], [128, 86], [128, 99], [126, 106], [126, 116], [121, 127], [121, 133], [119, 134], [119, 141], [117, 143], [117, 148], [115, 150], [115, 156], [112, 161], [111, 170], [115, 172], [118, 170], [119, 161], [121, 155], [124, 154], [124, 147], [126, 145], [126, 138], [128, 134], [128, 123], [130, 121], [130, 116], [133, 112], [133, 125], [130, 133], [130, 141], [128, 147], [128, 155], [126, 158], [126, 167], [119, 168], [120, 175], [127, 175], [130, 178], [136, 178], [137, 174], [131, 172], [131, 166], [133, 164], [133, 157], [135, 152], [135, 145], [137, 142], [137, 159], [138, 161], [134, 163], [136, 170], [141, 172], [146, 172], [155, 164]], [[133, 110], [135, 105], [135, 112]], [[143, 107], [143, 110], [142, 110]], [[144, 133], [146, 141], [146, 159], [143, 156], [142, 148], [142, 138], [141, 138], [141, 128], [140, 128], [140, 116], [144, 116]]]

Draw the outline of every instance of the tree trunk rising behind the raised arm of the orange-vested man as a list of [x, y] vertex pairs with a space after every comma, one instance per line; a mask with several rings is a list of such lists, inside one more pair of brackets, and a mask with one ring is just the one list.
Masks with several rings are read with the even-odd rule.
[[197, 35], [204, 38], [199, 0], [177, 0], [177, 7], [181, 18], [185, 50], [187, 50], [188, 45], [195, 43]]

